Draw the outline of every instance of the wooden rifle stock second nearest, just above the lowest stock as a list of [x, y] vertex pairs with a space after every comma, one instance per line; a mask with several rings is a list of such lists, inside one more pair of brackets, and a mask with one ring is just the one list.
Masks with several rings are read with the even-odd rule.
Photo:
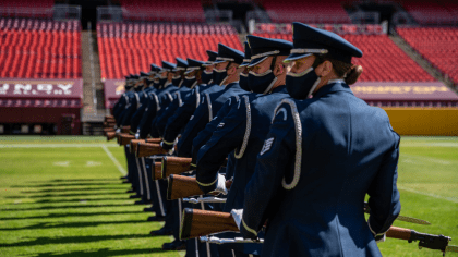
[[[164, 162], [162, 162], [164, 163]], [[162, 176], [164, 178], [164, 176]], [[230, 188], [232, 181], [226, 181], [226, 188]], [[174, 200], [194, 195], [204, 195], [195, 178], [171, 174], [168, 181], [167, 199]], [[215, 194], [217, 195], [217, 194]]]

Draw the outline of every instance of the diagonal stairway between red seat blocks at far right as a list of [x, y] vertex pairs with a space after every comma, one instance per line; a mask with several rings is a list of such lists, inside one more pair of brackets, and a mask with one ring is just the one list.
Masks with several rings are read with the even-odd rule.
[[458, 90], [454, 86], [454, 82], [444, 76], [439, 70], [431, 65], [431, 63], [425, 60], [419, 52], [417, 52], [409, 44], [407, 44], [399, 35], [393, 32], [389, 35], [389, 38], [403, 51], [408, 54], [413, 61], [415, 61], [421, 68], [423, 68], [431, 76], [436, 78], [437, 81], [444, 83], [448, 88], [458, 93]]

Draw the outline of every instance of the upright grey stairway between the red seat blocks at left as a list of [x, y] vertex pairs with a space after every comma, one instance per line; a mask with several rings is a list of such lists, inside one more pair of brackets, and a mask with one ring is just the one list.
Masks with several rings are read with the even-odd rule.
[[[104, 85], [100, 81], [97, 35], [91, 30], [82, 32], [83, 61], [83, 109], [81, 121], [84, 135], [101, 135], [106, 114]], [[91, 58], [91, 54], [93, 58]], [[95, 96], [93, 83], [95, 85]]]

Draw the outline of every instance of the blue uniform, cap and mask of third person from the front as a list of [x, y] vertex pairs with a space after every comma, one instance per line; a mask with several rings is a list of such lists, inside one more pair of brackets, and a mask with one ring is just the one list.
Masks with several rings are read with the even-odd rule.
[[[216, 58], [215, 63], [229, 61], [228, 66], [231, 63], [241, 64], [243, 62], [243, 53], [239, 50], [227, 47], [222, 44], [218, 44], [218, 57]], [[214, 82], [216, 84], [221, 84], [227, 77], [227, 71], [214, 71], [218, 75], [214, 76]], [[218, 79], [215, 79], [218, 78]], [[240, 94], [246, 93], [238, 82], [229, 83], [225, 86], [222, 90], [204, 94], [202, 96], [203, 101], [195, 110], [194, 114], [191, 117], [191, 120], [188, 122], [182, 137], [178, 142], [178, 155], [180, 157], [191, 157], [192, 154], [192, 140], [202, 131], [205, 125], [213, 120], [214, 114], [216, 114], [225, 102], [231, 97]]]

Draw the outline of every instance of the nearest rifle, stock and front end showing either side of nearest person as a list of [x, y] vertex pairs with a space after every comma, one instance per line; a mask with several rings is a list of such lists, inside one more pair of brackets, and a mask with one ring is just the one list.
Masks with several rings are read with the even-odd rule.
[[[180, 227], [180, 240], [190, 240], [221, 232], [239, 232], [232, 216], [228, 212], [185, 208]], [[419, 248], [439, 249], [444, 256], [447, 252], [458, 253], [458, 247], [448, 245], [451, 237], [420, 233], [414, 230], [390, 227], [386, 236], [406, 240], [409, 243], [419, 242]], [[257, 242], [261, 243], [261, 242]]]

